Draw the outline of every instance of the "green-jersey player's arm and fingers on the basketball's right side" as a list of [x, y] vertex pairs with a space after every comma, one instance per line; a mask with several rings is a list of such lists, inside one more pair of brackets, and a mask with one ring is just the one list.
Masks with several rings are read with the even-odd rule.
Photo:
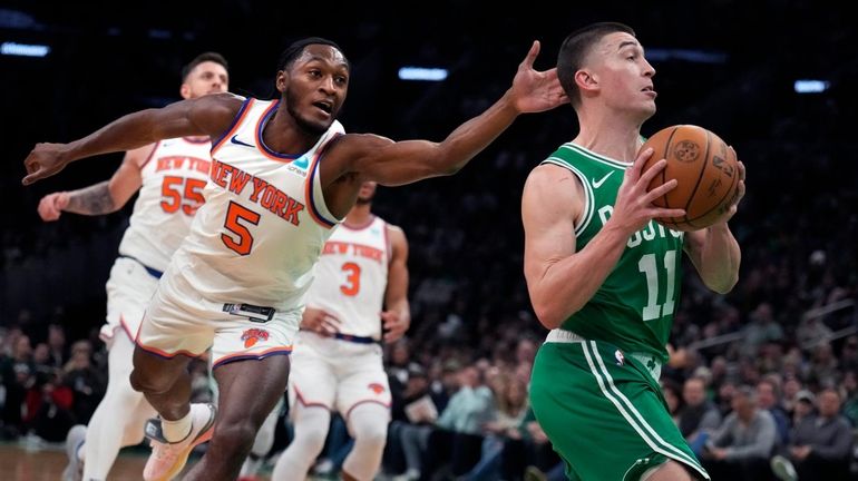
[[742, 252], [727, 222], [733, 217], [744, 197], [744, 164], [739, 163], [739, 186], [730, 209], [720, 222], [709, 228], [686, 234], [685, 253], [698, 269], [703, 284], [712, 291], [727, 294], [739, 282]]

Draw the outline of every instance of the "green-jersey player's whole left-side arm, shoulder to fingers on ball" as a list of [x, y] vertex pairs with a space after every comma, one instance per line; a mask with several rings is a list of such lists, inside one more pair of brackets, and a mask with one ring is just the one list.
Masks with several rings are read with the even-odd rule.
[[571, 171], [554, 165], [536, 167], [521, 196], [525, 227], [525, 278], [530, 303], [547, 328], [559, 327], [593, 297], [623, 254], [628, 237], [653, 217], [684, 215], [682, 209], [655, 207], [653, 199], [676, 186], [671, 180], [646, 192], [666, 165], [660, 160], [641, 175], [652, 155], [642, 153], [626, 170], [611, 218], [581, 251], [575, 223], [584, 208], [584, 187]]

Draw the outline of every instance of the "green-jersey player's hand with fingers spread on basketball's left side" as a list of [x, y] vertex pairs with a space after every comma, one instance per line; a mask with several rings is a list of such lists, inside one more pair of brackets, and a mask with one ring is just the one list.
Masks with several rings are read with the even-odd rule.
[[657, 207], [653, 200], [671, 192], [676, 187], [676, 179], [671, 179], [659, 187], [646, 192], [650, 183], [667, 166], [667, 160], [661, 159], [641, 174], [643, 165], [653, 155], [653, 149], [647, 148], [637, 155], [634, 164], [625, 170], [623, 184], [616, 193], [614, 212], [611, 220], [620, 223], [628, 235], [642, 229], [651, 219], [656, 217], [682, 217], [685, 209]]

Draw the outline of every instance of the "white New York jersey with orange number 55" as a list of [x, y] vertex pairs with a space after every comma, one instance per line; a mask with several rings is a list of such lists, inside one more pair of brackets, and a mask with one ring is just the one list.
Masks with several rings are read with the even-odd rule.
[[208, 138], [160, 140], [140, 166], [143, 184], [119, 254], [164, 272], [203, 204], [212, 165]]

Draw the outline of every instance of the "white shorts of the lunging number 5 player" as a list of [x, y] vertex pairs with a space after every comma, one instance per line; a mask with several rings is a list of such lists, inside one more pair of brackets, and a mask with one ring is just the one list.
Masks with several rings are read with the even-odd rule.
[[300, 308], [276, 311], [265, 322], [230, 314], [223, 303], [203, 298], [183, 276], [167, 272], [135, 342], [162, 357], [195, 357], [211, 347], [214, 369], [232, 361], [290, 354], [300, 322]]

